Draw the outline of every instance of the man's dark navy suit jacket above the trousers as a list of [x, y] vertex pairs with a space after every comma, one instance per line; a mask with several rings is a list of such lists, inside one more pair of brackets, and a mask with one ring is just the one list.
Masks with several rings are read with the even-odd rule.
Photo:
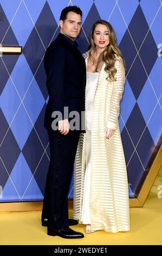
[[50, 128], [53, 111], [60, 111], [62, 119], [64, 107], [68, 107], [69, 112], [85, 111], [86, 64], [79, 50], [60, 33], [47, 48], [44, 68], [49, 94], [44, 127]]

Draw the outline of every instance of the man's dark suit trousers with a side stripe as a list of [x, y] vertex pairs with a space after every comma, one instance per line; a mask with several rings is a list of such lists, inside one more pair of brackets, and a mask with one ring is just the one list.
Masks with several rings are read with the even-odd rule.
[[42, 218], [48, 218], [48, 228], [68, 227], [68, 191], [72, 177], [79, 132], [48, 130], [50, 165], [47, 174]]

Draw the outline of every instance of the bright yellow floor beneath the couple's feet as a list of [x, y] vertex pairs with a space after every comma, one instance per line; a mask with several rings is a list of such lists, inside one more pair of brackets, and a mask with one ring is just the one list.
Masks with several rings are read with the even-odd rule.
[[[85, 226], [80, 224], [73, 229], [84, 233], [83, 239], [62, 239], [47, 235], [47, 228], [41, 226], [41, 212], [1, 213], [0, 245], [162, 245], [162, 198], [157, 196], [159, 185], [162, 185], [162, 168], [144, 207], [131, 208], [129, 232], [112, 234], [100, 230], [85, 234]], [[69, 214], [72, 217], [72, 210]]]

